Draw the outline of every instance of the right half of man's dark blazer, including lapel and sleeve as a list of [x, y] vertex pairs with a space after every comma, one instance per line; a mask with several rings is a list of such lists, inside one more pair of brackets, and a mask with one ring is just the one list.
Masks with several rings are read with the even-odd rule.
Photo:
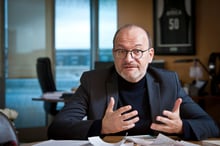
[[[182, 98], [180, 118], [183, 121], [183, 134], [187, 140], [202, 140], [219, 136], [219, 127], [206, 111], [186, 94], [180, 84], [177, 73], [150, 68], [148, 75], [149, 99], [152, 119], [163, 115], [163, 110], [172, 111], [177, 98]], [[159, 106], [155, 106], [155, 105]]]

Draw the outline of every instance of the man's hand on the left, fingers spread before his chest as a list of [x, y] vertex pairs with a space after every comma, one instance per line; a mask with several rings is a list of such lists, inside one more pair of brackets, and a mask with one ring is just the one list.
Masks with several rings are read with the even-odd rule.
[[133, 128], [135, 123], [139, 121], [139, 118], [137, 117], [138, 112], [136, 110], [130, 111], [132, 109], [130, 105], [123, 106], [113, 111], [114, 104], [115, 100], [111, 97], [104, 118], [102, 119], [102, 134], [117, 133], [128, 130]]

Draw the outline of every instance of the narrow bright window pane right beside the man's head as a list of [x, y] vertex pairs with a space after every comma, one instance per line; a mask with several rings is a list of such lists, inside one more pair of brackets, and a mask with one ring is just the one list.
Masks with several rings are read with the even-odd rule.
[[117, 29], [117, 0], [99, 1], [99, 61], [112, 61], [113, 36]]

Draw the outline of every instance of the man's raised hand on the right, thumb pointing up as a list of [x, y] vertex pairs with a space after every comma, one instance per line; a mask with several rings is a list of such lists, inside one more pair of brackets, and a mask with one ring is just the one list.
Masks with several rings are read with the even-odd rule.
[[182, 99], [178, 98], [175, 102], [173, 111], [163, 111], [163, 116], [157, 116], [156, 120], [161, 122], [162, 124], [151, 124], [151, 129], [162, 131], [165, 133], [176, 133], [181, 134], [183, 132], [183, 123], [180, 118], [180, 104], [182, 103]]

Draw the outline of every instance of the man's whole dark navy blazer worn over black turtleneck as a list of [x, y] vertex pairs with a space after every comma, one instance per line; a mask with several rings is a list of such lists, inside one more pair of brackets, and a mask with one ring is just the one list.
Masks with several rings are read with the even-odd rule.
[[[114, 97], [118, 103], [118, 74], [115, 68], [84, 72], [81, 85], [72, 101], [58, 113], [48, 129], [51, 139], [87, 139], [88, 131], [94, 120], [101, 120], [109, 103]], [[178, 97], [182, 98], [180, 116], [195, 139], [219, 135], [219, 129], [211, 117], [203, 111], [181, 88], [175, 72], [148, 67], [147, 89], [152, 115], [162, 115], [163, 110], [172, 110]], [[87, 120], [82, 120], [87, 116]], [[188, 135], [190, 136], [190, 135]]]

